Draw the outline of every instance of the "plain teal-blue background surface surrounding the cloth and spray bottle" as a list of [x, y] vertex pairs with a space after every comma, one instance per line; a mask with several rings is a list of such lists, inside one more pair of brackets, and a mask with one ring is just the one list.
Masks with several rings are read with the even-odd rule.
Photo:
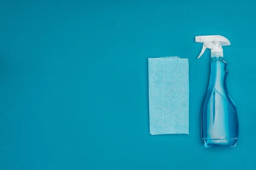
[[[256, 167], [253, 0], [0, 2], [1, 170]], [[239, 111], [236, 147], [201, 143], [209, 50], [220, 34]], [[149, 57], [189, 58], [189, 135], [149, 134]]]

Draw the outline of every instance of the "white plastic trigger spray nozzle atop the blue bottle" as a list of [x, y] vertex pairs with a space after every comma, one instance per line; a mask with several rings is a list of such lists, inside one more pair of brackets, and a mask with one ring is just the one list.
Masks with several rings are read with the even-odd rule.
[[230, 45], [229, 40], [220, 35], [196, 36], [195, 42], [204, 43], [198, 59], [204, 54], [206, 48], [211, 49], [211, 57], [223, 57], [222, 46]]

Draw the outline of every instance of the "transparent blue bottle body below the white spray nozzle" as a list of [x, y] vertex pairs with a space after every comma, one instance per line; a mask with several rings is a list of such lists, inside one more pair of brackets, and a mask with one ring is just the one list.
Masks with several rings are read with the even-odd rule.
[[202, 139], [205, 147], [236, 146], [239, 136], [238, 113], [227, 91], [227, 62], [211, 59], [209, 86], [201, 111]]

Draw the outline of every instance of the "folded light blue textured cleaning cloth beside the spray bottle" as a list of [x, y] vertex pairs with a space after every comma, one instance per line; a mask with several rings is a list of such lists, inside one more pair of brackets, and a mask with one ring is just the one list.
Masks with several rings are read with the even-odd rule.
[[150, 134], [189, 134], [189, 61], [148, 59]]

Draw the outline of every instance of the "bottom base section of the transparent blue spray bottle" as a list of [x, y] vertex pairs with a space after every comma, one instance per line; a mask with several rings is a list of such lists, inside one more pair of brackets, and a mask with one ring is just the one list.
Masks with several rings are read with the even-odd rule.
[[209, 139], [203, 138], [204, 147], [234, 147], [238, 138]]

